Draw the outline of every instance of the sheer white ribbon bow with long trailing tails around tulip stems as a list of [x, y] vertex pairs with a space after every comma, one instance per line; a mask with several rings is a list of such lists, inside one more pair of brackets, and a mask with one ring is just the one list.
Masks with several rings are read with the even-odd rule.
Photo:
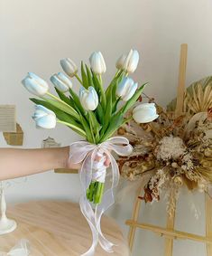
[[[107, 252], [113, 252], [112, 242], [106, 240], [101, 232], [101, 217], [106, 210], [115, 203], [114, 188], [118, 185], [119, 169], [111, 152], [119, 156], [128, 156], [132, 153], [133, 147], [129, 144], [129, 140], [125, 137], [111, 137], [101, 144], [91, 144], [88, 141], [78, 141], [70, 145], [69, 162], [72, 164], [82, 163], [79, 171], [80, 182], [83, 193], [79, 200], [81, 212], [86, 217], [90, 226], [93, 243], [89, 250], [82, 256], [92, 256], [95, 253], [97, 243]], [[95, 161], [96, 156], [102, 156], [102, 161]], [[87, 189], [92, 179], [99, 182], [105, 182], [106, 166], [104, 166], [105, 157], [110, 159], [112, 181], [110, 188], [103, 194], [102, 203], [97, 204], [93, 210], [92, 204], [87, 200]], [[99, 164], [100, 163], [100, 164]]]

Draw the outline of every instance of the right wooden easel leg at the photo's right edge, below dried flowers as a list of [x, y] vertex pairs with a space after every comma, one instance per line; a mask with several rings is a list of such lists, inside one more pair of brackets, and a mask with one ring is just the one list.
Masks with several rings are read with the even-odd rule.
[[[212, 240], [212, 200], [206, 194], [206, 237]], [[212, 244], [207, 243], [207, 256], [212, 256]]]

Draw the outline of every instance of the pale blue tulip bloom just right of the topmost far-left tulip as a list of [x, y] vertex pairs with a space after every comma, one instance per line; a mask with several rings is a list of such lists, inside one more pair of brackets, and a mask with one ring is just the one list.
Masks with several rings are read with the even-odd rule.
[[54, 74], [51, 76], [51, 82], [54, 84], [54, 86], [62, 91], [62, 92], [66, 92], [68, 91], [70, 88], [72, 88], [72, 82], [69, 80], [69, 78], [59, 72], [58, 74]]

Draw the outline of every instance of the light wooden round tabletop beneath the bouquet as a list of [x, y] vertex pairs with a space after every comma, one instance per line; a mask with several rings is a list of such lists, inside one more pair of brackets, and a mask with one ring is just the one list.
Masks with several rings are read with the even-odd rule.
[[[32, 256], [77, 256], [91, 245], [88, 223], [78, 204], [68, 202], [31, 202], [8, 209], [8, 216], [17, 221], [17, 229], [0, 236], [0, 251], [9, 251], [20, 239], [30, 241]], [[112, 219], [103, 217], [102, 230], [111, 242], [118, 244], [111, 255], [128, 256], [122, 232]], [[108, 256], [100, 246], [97, 256]]]

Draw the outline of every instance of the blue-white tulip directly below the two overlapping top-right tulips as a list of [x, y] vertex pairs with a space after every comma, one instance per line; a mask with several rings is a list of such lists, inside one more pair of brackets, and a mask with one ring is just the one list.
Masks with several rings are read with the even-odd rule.
[[138, 84], [134, 83], [131, 78], [124, 78], [116, 88], [116, 96], [121, 97], [122, 100], [130, 100], [134, 96], [135, 90], [137, 90]]

